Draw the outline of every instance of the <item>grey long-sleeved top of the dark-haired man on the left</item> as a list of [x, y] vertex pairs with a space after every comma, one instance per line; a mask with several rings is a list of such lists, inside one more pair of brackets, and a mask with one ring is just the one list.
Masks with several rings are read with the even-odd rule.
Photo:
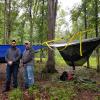
[[19, 64], [20, 58], [21, 58], [21, 52], [17, 47], [15, 48], [11, 47], [7, 50], [5, 56], [6, 62], [13, 61], [13, 64]]

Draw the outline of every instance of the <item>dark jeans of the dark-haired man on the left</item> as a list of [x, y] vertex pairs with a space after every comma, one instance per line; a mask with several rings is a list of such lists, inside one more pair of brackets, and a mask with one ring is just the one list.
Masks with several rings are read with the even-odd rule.
[[12, 66], [7, 64], [6, 68], [6, 88], [10, 88], [11, 83], [11, 76], [13, 75], [13, 87], [17, 88], [18, 82], [17, 82], [17, 75], [18, 75], [18, 64], [13, 64]]

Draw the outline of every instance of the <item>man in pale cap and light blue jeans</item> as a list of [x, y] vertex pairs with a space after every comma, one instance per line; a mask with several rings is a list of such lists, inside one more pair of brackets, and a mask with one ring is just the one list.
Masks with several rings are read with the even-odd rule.
[[25, 50], [22, 56], [24, 66], [25, 88], [29, 88], [34, 84], [34, 51], [29, 41], [25, 41]]

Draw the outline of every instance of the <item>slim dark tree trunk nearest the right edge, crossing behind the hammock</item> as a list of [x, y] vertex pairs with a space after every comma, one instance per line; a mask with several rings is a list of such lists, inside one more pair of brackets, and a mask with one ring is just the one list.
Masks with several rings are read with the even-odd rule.
[[[96, 37], [98, 37], [98, 0], [95, 0], [95, 32]], [[97, 54], [97, 72], [100, 72], [100, 61], [99, 61], [99, 48], [96, 50]]]

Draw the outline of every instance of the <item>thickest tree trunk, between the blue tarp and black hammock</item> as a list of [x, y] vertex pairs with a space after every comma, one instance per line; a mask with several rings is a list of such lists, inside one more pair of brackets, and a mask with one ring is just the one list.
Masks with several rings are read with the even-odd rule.
[[[48, 40], [55, 38], [55, 21], [57, 11], [57, 0], [48, 0]], [[46, 64], [46, 71], [53, 73], [55, 69], [55, 52], [48, 49], [48, 60]]]

